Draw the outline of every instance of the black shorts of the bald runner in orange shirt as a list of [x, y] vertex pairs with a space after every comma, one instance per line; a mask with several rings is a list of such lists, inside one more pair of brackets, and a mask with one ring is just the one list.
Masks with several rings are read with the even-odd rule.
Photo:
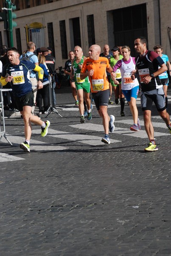
[[92, 93], [93, 99], [95, 106], [97, 110], [100, 109], [100, 106], [107, 106], [109, 102], [109, 97], [110, 97], [110, 91], [109, 89], [104, 90], [104, 91], [99, 91], [97, 93]]

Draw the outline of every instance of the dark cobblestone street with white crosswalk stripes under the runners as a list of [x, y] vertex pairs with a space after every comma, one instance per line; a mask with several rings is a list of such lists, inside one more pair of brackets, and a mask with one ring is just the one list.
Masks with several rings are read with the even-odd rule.
[[159, 150], [145, 153], [149, 140], [140, 96], [139, 132], [130, 131], [129, 106], [125, 117], [120, 105], [109, 106], [115, 116], [110, 145], [101, 142], [104, 130], [95, 105], [93, 119], [80, 124], [70, 88], [57, 90], [56, 100], [62, 117], [50, 113], [46, 137], [33, 125], [30, 153], [19, 148], [23, 120], [5, 119], [13, 146], [0, 141], [0, 254], [171, 255], [171, 134], [155, 106]]

